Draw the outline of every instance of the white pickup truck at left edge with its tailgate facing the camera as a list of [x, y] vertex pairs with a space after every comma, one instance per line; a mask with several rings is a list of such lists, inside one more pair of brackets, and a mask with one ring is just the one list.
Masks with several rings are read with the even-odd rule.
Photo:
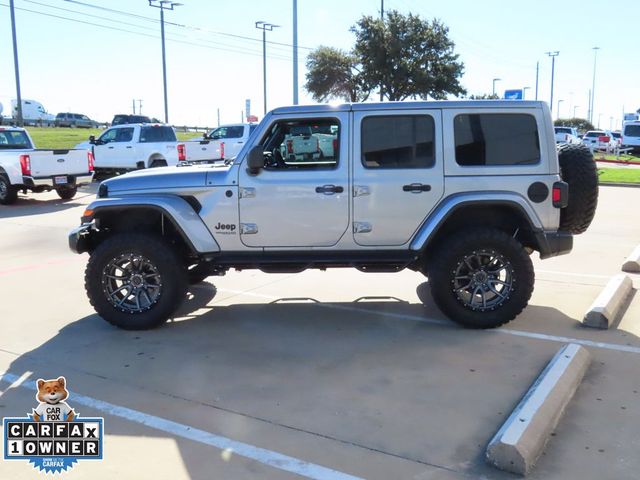
[[86, 150], [39, 150], [23, 128], [0, 127], [0, 204], [10, 205], [20, 190], [55, 190], [69, 200], [93, 178], [93, 154]]

